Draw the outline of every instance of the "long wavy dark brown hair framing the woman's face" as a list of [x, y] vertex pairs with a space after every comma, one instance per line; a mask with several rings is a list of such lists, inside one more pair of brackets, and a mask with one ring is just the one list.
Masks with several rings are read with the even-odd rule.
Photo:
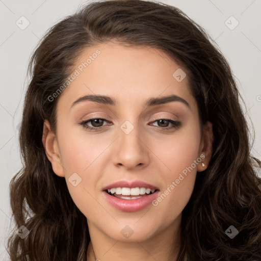
[[[86, 5], [50, 28], [31, 58], [19, 136], [23, 167], [10, 183], [16, 222], [8, 240], [11, 260], [86, 260], [86, 217], [46, 157], [43, 122], [49, 120], [55, 131], [59, 97], [48, 97], [63, 85], [81, 51], [114, 39], [159, 49], [175, 60], [188, 75], [201, 124], [213, 123], [212, 159], [197, 175], [182, 212], [177, 260], [261, 260], [261, 179], [254, 168], [259, 170], [260, 162], [250, 155], [231, 69], [211, 37], [186, 14], [140, 0]], [[15, 233], [22, 225], [30, 231], [24, 239]], [[239, 231], [233, 239], [225, 232], [230, 225]]]

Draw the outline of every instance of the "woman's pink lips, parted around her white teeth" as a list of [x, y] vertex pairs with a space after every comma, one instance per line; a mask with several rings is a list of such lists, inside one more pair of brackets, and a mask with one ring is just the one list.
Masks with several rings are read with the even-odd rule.
[[[112, 188], [146, 188], [146, 189], [154, 189], [156, 190], [152, 194], [145, 194], [140, 195], [141, 198], [137, 199], [121, 199], [114, 197], [107, 193], [108, 189]], [[117, 181], [113, 184], [106, 186], [103, 188], [102, 195], [106, 198], [106, 200], [117, 210], [123, 211], [123, 212], [136, 212], [143, 210], [145, 207], [147, 207], [151, 202], [158, 197], [160, 191], [155, 186], [152, 186], [146, 182], [143, 181]]]

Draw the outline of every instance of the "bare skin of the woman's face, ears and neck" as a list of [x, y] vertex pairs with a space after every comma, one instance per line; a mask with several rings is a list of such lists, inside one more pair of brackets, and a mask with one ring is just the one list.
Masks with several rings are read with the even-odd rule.
[[[174, 79], [172, 74], [180, 66], [160, 50], [108, 42], [84, 49], [75, 68], [97, 49], [100, 55], [58, 97], [56, 133], [44, 122], [46, 155], [87, 218], [88, 260], [168, 260], [174, 243], [172, 260], [176, 260], [181, 212], [191, 197], [197, 172], [206, 169], [211, 159], [212, 125], [203, 126], [202, 136], [188, 79]], [[83, 101], [71, 108], [73, 101], [87, 94], [112, 96], [118, 106]], [[142, 106], [150, 97], [170, 94], [185, 99], [190, 108], [180, 101]], [[93, 132], [80, 125], [90, 116], [106, 118], [103, 128]], [[181, 125], [166, 130], [172, 124], [158, 122], [161, 118], [178, 120]], [[134, 127], [129, 134], [120, 128], [126, 120]], [[157, 206], [127, 213], [116, 210], [102, 196], [102, 188], [118, 180], [142, 180], [163, 193], [201, 154], [205, 166], [198, 164]], [[68, 181], [75, 172], [82, 178], [76, 187]], [[133, 230], [128, 239], [121, 233], [126, 225]]]

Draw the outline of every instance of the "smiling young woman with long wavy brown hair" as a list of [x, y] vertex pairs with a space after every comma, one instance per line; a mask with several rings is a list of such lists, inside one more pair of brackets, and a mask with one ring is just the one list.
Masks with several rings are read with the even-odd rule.
[[260, 162], [208, 38], [139, 0], [88, 4], [48, 31], [10, 184], [11, 260], [261, 259]]

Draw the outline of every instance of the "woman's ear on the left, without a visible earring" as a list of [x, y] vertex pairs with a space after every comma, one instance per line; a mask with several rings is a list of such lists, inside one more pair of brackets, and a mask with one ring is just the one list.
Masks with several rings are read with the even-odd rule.
[[45, 154], [53, 167], [53, 171], [56, 173], [56, 175], [64, 177], [64, 169], [57, 138], [54, 132], [51, 131], [50, 123], [48, 122], [48, 120], [45, 120], [43, 124], [42, 143]]

